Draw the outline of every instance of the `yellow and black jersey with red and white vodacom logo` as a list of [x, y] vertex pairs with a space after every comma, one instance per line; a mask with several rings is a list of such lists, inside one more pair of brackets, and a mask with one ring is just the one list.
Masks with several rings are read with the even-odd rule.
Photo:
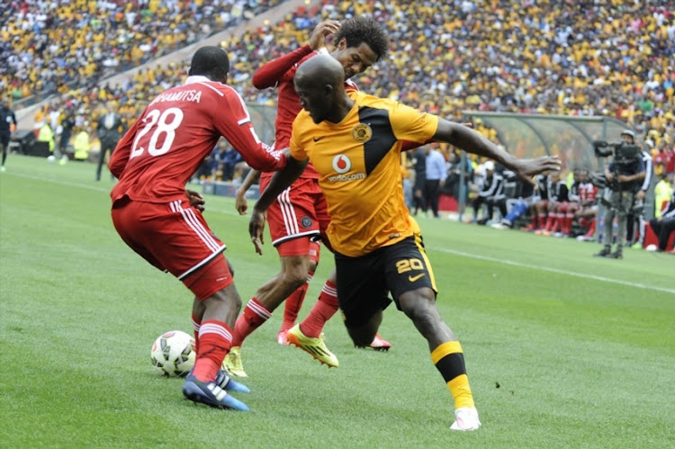
[[424, 142], [438, 118], [404, 104], [349, 93], [354, 107], [339, 123], [314, 123], [302, 111], [293, 121], [291, 155], [310, 159], [329, 206], [331, 246], [363, 256], [410, 237], [401, 189], [401, 140]]

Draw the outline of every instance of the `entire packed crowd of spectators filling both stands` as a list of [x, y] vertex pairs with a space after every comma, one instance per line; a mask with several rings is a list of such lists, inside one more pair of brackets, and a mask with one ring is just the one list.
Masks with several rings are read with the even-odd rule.
[[[48, 85], [57, 88], [62, 93], [58, 100], [35, 115], [37, 127], [50, 121], [52, 128], [68, 116], [76, 127], [94, 123], [106, 102], [132, 120], [148, 98], [182, 83], [186, 65], [146, 69], [121, 85], [94, 85], [94, 79], [105, 70], [138, 65], [232, 24], [234, 8], [257, 11], [259, 4], [275, 4], [137, 1], [130, 7], [98, 2], [82, 13], [72, 2], [47, 2], [54, 13], [40, 14], [43, 3], [13, 2], [4, 11], [11, 20], [0, 32], [14, 47], [7, 59], [10, 72], [0, 77], [0, 84], [4, 90], [20, 91], [15, 98]], [[257, 67], [306, 42], [320, 20], [356, 14], [372, 14], [392, 40], [390, 55], [356, 80], [366, 92], [455, 121], [463, 118], [463, 110], [613, 117], [638, 131], [637, 143], [652, 153], [656, 181], [663, 178], [667, 183], [667, 176], [675, 173], [671, 2], [324, 0], [320, 8], [300, 8], [281, 22], [223, 40], [232, 66], [229, 84], [249, 103], [274, 106], [275, 92], [258, 91], [251, 83]], [[112, 20], [102, 21], [103, 15]], [[58, 41], [55, 33], [64, 29], [75, 45], [53, 43]], [[110, 58], [115, 62], [107, 64]], [[57, 79], [61, 81], [55, 85]], [[496, 131], [480, 120], [474, 126], [498, 140]], [[452, 171], [452, 148], [438, 147]], [[552, 149], [563, 152], [555, 145]], [[481, 163], [474, 160], [473, 168]], [[574, 167], [591, 168], [580, 161], [567, 164], [570, 187]]]

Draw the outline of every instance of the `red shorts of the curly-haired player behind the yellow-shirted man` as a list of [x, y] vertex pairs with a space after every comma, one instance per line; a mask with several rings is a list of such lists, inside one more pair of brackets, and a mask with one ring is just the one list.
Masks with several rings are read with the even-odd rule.
[[[270, 179], [265, 177], [260, 180], [261, 192], [265, 191]], [[267, 210], [272, 244], [277, 247], [280, 256], [310, 254], [311, 239], [325, 234], [329, 222], [326, 198], [319, 187], [319, 180], [313, 178], [295, 181]]]

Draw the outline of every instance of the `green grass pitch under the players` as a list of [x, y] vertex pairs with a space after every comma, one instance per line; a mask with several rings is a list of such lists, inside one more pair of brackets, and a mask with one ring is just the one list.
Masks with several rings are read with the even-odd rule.
[[[385, 311], [387, 354], [326, 327], [327, 369], [278, 346], [282, 310], [247, 339], [252, 409], [183, 400], [149, 349], [191, 332], [191, 294], [136, 256], [94, 166], [10, 156], [0, 174], [0, 441], [4, 447], [673, 447], [675, 257], [419, 220], [439, 309], [462, 341], [483, 427], [453, 433], [452, 398], [408, 319]], [[105, 179], [105, 177], [104, 177]], [[247, 218], [207, 197], [247, 301], [278, 270]], [[332, 267], [324, 251], [307, 313]]]

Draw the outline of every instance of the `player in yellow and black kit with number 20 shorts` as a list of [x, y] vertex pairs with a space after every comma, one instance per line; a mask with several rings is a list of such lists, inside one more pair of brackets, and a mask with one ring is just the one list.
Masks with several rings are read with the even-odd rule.
[[[414, 237], [401, 190], [401, 140], [448, 142], [491, 157], [532, 183], [557, 170], [557, 157], [518, 159], [479, 133], [401, 103], [362, 93], [347, 95], [345, 72], [330, 57], [298, 68], [294, 85], [302, 108], [293, 122], [291, 157], [253, 209], [249, 231], [260, 249], [265, 211], [308, 161], [331, 217], [327, 238], [335, 253], [338, 301], [356, 346], [367, 346], [392, 300], [428, 341], [431, 359], [455, 400], [453, 430], [481, 426], [464, 367], [462, 346], [441, 318], [437, 288], [421, 241]], [[350, 96], [351, 95], [351, 96]]]

